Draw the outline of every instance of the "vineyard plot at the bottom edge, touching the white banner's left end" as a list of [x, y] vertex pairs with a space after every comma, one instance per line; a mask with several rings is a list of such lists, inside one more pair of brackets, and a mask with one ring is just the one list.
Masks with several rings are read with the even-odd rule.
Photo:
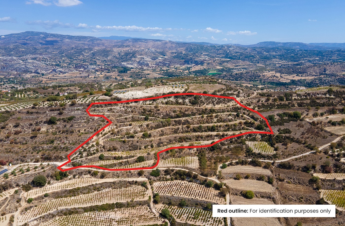
[[167, 208], [170, 210], [170, 214], [174, 216], [178, 222], [187, 222], [194, 225], [205, 225], [205, 226], [218, 226], [224, 225], [223, 218], [212, 217], [211, 211], [206, 211], [199, 208], [181, 208], [177, 206], [167, 206], [163, 204], [155, 205], [158, 212], [162, 209]]

